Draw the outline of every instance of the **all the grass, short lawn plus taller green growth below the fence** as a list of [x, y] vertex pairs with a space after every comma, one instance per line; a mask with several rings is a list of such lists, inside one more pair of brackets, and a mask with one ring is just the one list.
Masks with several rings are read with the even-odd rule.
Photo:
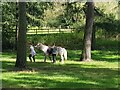
[[[43, 63], [43, 53], [37, 51], [36, 62], [30, 63], [29, 70], [16, 70], [16, 54], [3, 52], [2, 87], [4, 88], [118, 88], [118, 43], [117, 40], [96, 39], [97, 50], [92, 51], [91, 62], [80, 62], [83, 33], [49, 35], [28, 35], [28, 42], [63, 46], [68, 50], [65, 64]], [[27, 48], [27, 52], [28, 52]], [[48, 58], [47, 58], [48, 59]]]

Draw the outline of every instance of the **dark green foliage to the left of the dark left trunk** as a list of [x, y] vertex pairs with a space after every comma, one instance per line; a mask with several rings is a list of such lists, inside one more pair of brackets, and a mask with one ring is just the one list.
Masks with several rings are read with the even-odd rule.
[[[2, 3], [2, 47], [10, 49], [15, 44], [16, 3]], [[7, 44], [6, 44], [7, 43]]]

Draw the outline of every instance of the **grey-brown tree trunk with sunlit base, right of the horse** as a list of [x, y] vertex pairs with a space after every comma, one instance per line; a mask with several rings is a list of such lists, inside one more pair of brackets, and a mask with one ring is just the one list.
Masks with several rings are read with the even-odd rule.
[[91, 42], [94, 21], [94, 2], [87, 2], [86, 25], [84, 31], [83, 51], [80, 61], [91, 61]]

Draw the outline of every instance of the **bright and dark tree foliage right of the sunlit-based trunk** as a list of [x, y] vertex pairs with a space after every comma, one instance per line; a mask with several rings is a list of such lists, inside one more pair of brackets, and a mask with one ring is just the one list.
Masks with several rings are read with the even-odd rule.
[[[119, 33], [120, 21], [116, 19], [116, 3], [110, 7], [112, 3], [100, 4], [96, 3], [96, 17], [94, 26], [96, 30], [102, 30], [106, 38], [116, 37]], [[108, 8], [109, 7], [109, 8]]]

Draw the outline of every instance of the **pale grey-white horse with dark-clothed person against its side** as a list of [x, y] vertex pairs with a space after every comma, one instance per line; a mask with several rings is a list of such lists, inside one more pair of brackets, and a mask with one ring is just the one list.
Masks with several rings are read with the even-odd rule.
[[67, 50], [62, 47], [58, 46], [47, 46], [42, 43], [38, 43], [35, 47], [40, 49], [41, 51], [44, 52], [44, 62], [46, 62], [46, 57], [49, 56], [51, 60], [51, 56], [53, 59], [51, 60], [53, 63], [56, 61], [56, 55], [59, 55], [61, 58], [61, 62], [64, 63], [64, 60], [67, 60]]

